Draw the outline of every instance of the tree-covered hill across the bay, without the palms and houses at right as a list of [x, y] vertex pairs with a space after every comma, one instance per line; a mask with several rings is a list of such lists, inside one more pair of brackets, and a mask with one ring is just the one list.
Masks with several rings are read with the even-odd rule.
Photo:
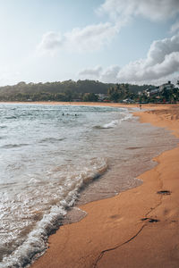
[[[136, 96], [139, 91], [148, 88], [148, 85], [136, 86], [130, 84], [102, 83], [96, 80], [66, 80], [47, 83], [25, 83], [21, 81], [14, 86], [0, 88], [0, 101], [98, 101], [97, 94], [108, 93], [109, 100], [122, 99], [121, 94]], [[151, 86], [152, 87], [152, 86]], [[120, 96], [115, 97], [110, 88], [121, 88]], [[125, 92], [125, 93], [124, 93]]]

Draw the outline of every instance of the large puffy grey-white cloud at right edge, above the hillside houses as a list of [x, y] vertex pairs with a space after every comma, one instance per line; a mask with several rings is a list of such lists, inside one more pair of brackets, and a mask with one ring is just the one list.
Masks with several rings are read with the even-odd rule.
[[120, 81], [158, 80], [179, 71], [179, 34], [154, 41], [146, 59], [125, 65], [117, 74]]

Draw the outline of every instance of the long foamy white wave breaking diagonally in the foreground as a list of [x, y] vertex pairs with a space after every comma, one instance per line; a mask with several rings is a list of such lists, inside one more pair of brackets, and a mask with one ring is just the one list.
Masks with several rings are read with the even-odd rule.
[[75, 177], [75, 180], [74, 177], [67, 180], [68, 191], [64, 190], [64, 198], [58, 204], [51, 206], [50, 212], [43, 215], [28, 238], [12, 255], [4, 257], [0, 264], [1, 268], [22, 268], [44, 254], [47, 249], [48, 236], [59, 227], [59, 222], [63, 222], [67, 209], [74, 205], [80, 195], [81, 188], [86, 187], [92, 180], [96, 180], [107, 171], [106, 159], [101, 158], [97, 162], [94, 159], [92, 163], [92, 169], [86, 168]]

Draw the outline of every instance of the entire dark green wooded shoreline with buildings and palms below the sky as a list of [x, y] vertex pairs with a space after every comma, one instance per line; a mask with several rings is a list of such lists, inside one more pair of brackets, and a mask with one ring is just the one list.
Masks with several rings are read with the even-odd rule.
[[[165, 87], [166, 85], [166, 87]], [[179, 88], [171, 82], [162, 89], [151, 85], [102, 83], [95, 80], [66, 80], [52, 83], [20, 82], [0, 88], [0, 101], [84, 101], [125, 103], [175, 103]], [[169, 90], [168, 90], [168, 87]]]

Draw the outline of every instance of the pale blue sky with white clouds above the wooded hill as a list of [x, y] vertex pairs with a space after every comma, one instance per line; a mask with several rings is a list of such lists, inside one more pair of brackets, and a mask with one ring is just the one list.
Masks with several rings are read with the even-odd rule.
[[0, 86], [179, 80], [179, 0], [0, 0]]

